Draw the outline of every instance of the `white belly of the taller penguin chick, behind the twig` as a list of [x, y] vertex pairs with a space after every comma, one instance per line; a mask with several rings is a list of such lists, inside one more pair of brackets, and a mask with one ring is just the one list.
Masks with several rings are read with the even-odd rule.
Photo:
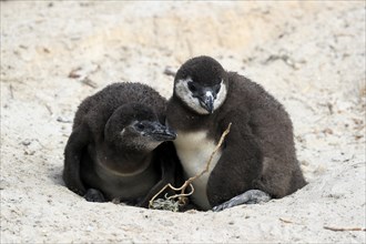
[[[187, 177], [197, 175], [206, 169], [210, 156], [216, 146], [213, 140], [207, 139], [205, 131], [194, 133], [182, 133], [179, 131], [174, 145]], [[193, 181], [193, 201], [203, 210], [212, 209], [207, 200], [206, 186], [211, 171], [215, 167], [220, 157], [221, 150], [213, 157], [209, 172]]]

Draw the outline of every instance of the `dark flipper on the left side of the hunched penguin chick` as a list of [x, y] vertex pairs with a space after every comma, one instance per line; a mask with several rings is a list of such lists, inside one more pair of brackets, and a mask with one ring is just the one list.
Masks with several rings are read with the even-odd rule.
[[79, 195], [87, 193], [85, 186], [81, 181], [80, 164], [82, 153], [88, 143], [89, 129], [81, 124], [72, 131], [64, 150], [62, 179], [67, 187]]

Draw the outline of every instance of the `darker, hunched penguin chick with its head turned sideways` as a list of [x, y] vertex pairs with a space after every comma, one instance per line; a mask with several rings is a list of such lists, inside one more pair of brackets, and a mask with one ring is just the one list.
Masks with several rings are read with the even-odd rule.
[[79, 106], [64, 150], [63, 180], [91, 202], [118, 200], [148, 206], [174, 182], [166, 101], [141, 83], [114, 83]]

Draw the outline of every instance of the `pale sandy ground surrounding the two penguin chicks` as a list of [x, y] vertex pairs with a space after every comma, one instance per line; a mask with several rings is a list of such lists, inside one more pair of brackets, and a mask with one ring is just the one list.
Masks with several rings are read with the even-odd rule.
[[[169, 98], [165, 68], [197, 54], [283, 102], [309, 184], [220, 213], [64, 187], [81, 100], [116, 81]], [[365, 1], [1, 1], [1, 243], [365, 243]]]

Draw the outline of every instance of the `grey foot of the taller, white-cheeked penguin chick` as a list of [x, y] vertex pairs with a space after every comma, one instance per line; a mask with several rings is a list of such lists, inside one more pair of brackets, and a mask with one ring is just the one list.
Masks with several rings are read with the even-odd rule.
[[241, 204], [255, 204], [261, 202], [268, 202], [270, 200], [271, 196], [267, 193], [260, 190], [250, 190], [217, 206], [214, 206], [212, 211], [218, 212]]

